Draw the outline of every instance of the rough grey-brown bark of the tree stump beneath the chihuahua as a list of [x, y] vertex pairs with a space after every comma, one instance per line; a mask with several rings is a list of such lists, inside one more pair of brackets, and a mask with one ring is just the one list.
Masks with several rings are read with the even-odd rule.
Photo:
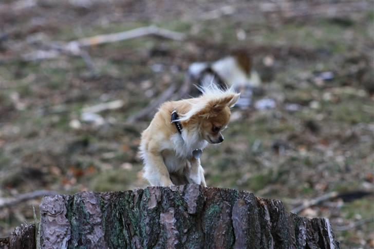
[[40, 207], [42, 248], [339, 248], [328, 219], [234, 189], [83, 192], [45, 197]]

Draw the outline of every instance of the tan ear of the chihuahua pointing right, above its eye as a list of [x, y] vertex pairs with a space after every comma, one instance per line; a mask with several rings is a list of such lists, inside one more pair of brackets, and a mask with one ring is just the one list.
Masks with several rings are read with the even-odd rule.
[[239, 97], [240, 93], [232, 93], [221, 98], [212, 99], [199, 111], [198, 115], [202, 118], [215, 117], [223, 108], [233, 107]]

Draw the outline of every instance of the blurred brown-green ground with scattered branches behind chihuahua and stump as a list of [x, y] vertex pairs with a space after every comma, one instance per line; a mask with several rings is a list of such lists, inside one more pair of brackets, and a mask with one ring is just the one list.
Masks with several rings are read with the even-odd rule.
[[235, 84], [223, 65], [243, 99], [225, 142], [202, 154], [207, 184], [327, 217], [342, 248], [373, 248], [373, 8], [2, 1], [0, 236], [33, 221], [35, 190], [146, 186], [137, 148], [155, 108], [195, 94], [207, 65]]

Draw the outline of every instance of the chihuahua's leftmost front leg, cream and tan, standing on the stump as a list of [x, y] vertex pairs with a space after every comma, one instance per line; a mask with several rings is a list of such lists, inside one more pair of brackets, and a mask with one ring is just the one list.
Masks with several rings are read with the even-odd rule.
[[163, 161], [161, 154], [153, 152], [144, 153], [144, 178], [152, 186], [172, 186], [174, 185], [170, 180], [169, 171]]

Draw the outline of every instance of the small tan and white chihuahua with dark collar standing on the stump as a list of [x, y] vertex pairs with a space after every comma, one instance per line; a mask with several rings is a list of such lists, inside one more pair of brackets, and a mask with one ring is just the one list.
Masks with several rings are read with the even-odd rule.
[[214, 84], [199, 90], [197, 98], [163, 103], [142, 133], [143, 177], [153, 186], [207, 186], [200, 164], [202, 149], [223, 141], [221, 132], [240, 94]]

